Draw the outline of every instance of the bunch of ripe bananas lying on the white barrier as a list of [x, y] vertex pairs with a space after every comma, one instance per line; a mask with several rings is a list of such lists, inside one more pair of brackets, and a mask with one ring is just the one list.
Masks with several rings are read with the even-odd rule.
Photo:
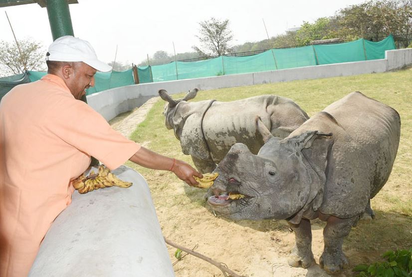
[[132, 183], [117, 178], [116, 175], [111, 173], [110, 169], [104, 165], [99, 166], [97, 174], [94, 173], [94, 171], [90, 171], [90, 174], [87, 177], [82, 174], [77, 179], [73, 180], [72, 184], [81, 194], [107, 187], [116, 186], [120, 188], [128, 188], [132, 185]]

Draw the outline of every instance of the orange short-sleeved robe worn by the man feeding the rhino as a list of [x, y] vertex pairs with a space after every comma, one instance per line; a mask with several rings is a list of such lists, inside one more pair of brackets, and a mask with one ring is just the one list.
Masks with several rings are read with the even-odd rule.
[[0, 103], [0, 276], [27, 276], [90, 155], [115, 169], [139, 149], [56, 75], [8, 92]]

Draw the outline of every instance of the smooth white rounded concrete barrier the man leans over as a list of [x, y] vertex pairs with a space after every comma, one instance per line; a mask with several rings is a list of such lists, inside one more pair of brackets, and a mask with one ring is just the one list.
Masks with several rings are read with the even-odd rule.
[[125, 166], [113, 172], [133, 185], [74, 192], [29, 277], [175, 276], [146, 180]]

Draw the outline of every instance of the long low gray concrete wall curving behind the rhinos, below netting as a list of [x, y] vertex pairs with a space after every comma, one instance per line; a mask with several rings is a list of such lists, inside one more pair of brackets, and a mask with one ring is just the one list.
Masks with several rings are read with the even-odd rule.
[[325, 64], [275, 71], [124, 86], [89, 95], [87, 96], [87, 102], [97, 112], [103, 115], [106, 120], [110, 120], [122, 112], [132, 110], [135, 107], [140, 107], [148, 99], [158, 96], [158, 91], [162, 88], [166, 89], [169, 94], [174, 94], [187, 92], [195, 87], [201, 90], [207, 90], [292, 80], [386, 72], [410, 64], [412, 64], [411, 48], [389, 50], [385, 53], [385, 59], [379, 60]]

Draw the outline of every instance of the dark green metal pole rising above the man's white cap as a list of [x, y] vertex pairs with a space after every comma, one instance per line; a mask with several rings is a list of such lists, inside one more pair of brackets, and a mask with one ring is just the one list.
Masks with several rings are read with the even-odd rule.
[[48, 0], [47, 14], [53, 40], [63, 35], [74, 35], [69, 4], [66, 0]]

